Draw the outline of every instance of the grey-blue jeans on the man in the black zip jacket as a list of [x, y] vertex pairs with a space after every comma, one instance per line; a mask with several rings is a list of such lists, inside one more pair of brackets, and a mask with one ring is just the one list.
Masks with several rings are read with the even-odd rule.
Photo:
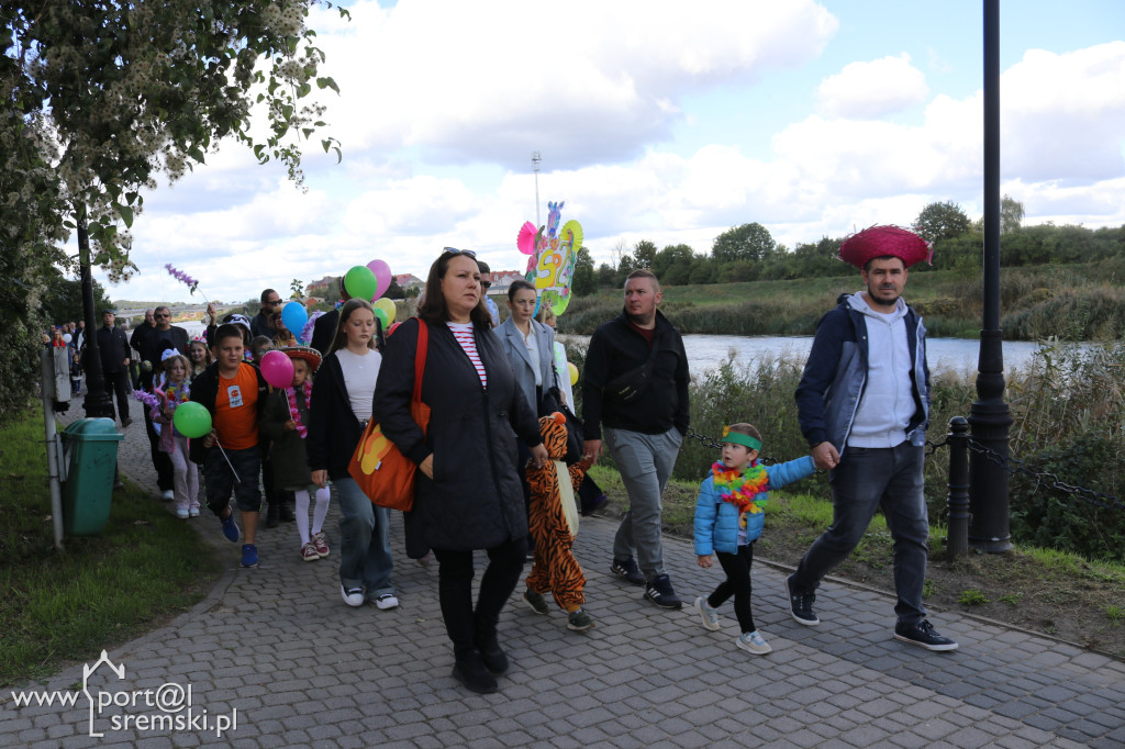
[[629, 509], [613, 539], [613, 558], [629, 559], [636, 551], [640, 571], [651, 580], [664, 575], [660, 497], [672, 477], [683, 437], [675, 427], [664, 434], [611, 427], [603, 428], [603, 433], [629, 495]]

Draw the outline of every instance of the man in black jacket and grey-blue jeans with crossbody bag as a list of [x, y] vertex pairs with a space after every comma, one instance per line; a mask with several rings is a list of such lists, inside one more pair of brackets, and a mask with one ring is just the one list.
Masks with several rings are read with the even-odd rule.
[[604, 426], [629, 495], [629, 511], [613, 541], [611, 570], [644, 585], [645, 597], [657, 606], [680, 608], [682, 602], [664, 571], [660, 496], [690, 423], [687, 355], [680, 331], [656, 308], [660, 298], [656, 277], [633, 271], [626, 280], [621, 316], [598, 327], [590, 340], [582, 401], [584, 452], [597, 458]]

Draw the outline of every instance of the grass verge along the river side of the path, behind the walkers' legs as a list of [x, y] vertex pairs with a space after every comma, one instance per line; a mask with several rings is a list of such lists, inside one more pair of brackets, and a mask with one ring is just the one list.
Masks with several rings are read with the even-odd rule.
[[[609, 497], [598, 514], [620, 517], [628, 507], [616, 470], [595, 466], [591, 471]], [[703, 477], [700, 477], [702, 480]], [[795, 485], [802, 486], [800, 484]], [[808, 482], [806, 486], [816, 486]], [[664, 493], [666, 533], [692, 538], [699, 484], [673, 479]], [[809, 545], [831, 524], [827, 489], [817, 494], [771, 491], [766, 527], [754, 552], [755, 561], [795, 567]], [[930, 526], [929, 566], [924, 598], [936, 610], [957, 611], [1060, 638], [1125, 660], [1125, 565], [1090, 561], [1079, 554], [1018, 545], [1006, 554], [972, 554], [951, 561], [946, 529]], [[881, 590], [894, 589], [893, 548], [882, 515], [872, 521], [863, 541], [832, 576]], [[755, 606], [784, 605], [766, 594]], [[890, 604], [888, 619], [893, 616]]]

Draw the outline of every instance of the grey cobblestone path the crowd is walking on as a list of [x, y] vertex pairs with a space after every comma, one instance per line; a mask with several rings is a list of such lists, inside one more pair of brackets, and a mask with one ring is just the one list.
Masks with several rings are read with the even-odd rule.
[[[140, 426], [125, 430], [120, 464], [155, 489]], [[338, 520], [333, 507], [330, 540]], [[393, 611], [345, 606], [335, 557], [302, 561], [291, 523], [262, 530], [261, 567], [243, 570], [216, 520], [190, 522], [226, 562], [209, 597], [109, 653], [124, 678], [101, 666], [74, 706], [19, 707], [0, 694], [0, 746], [1125, 745], [1120, 662], [956, 613], [933, 620], [961, 649], [932, 653], [891, 638], [892, 596], [832, 581], [817, 601], [820, 626], [806, 628], [789, 616], [784, 572], [766, 565], [754, 568], [754, 608], [774, 651], [752, 656], [735, 647], [729, 604], [722, 630], [709, 632], [690, 607], [658, 610], [612, 576], [615, 524], [596, 518], [583, 520], [575, 550], [597, 625], [574, 633], [559, 611], [537, 615], [521, 585], [501, 619], [512, 668], [497, 694], [472, 695], [450, 676], [435, 566], [406, 559], [397, 514]], [[686, 602], [719, 580], [687, 542], [666, 538], [665, 559]], [[30, 686], [74, 691], [82, 680], [75, 666]], [[164, 706], [190, 685], [190, 710], [146, 704], [165, 684]], [[142, 691], [136, 704], [122, 706], [132, 691]], [[161, 725], [164, 714], [183, 723]], [[235, 716], [218, 736], [216, 721]]]

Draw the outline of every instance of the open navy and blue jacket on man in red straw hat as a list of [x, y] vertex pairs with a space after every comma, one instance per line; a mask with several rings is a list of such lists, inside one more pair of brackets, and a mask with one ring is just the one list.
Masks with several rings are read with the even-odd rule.
[[[840, 295], [838, 306], [817, 324], [804, 373], [796, 386], [796, 412], [801, 432], [810, 446], [831, 442], [843, 457], [852, 421], [867, 383], [867, 323]], [[929, 369], [926, 367], [926, 327], [910, 308], [903, 318], [910, 346], [914, 397], [917, 406], [907, 425], [910, 444], [926, 444], [929, 423]]]

